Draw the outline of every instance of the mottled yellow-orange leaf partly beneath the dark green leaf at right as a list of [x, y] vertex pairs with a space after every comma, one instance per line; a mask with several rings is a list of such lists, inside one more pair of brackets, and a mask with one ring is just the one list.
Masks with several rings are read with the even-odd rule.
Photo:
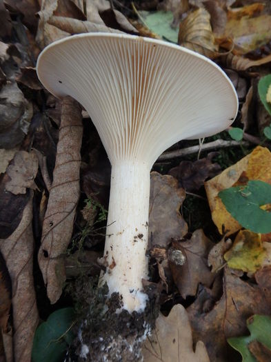
[[240, 181], [243, 181], [244, 184], [248, 180], [261, 180], [271, 183], [271, 152], [268, 148], [257, 146], [248, 156], [226, 168], [217, 177], [205, 182], [212, 220], [221, 234], [223, 234], [223, 230], [227, 234], [232, 234], [241, 229], [241, 225], [225, 209], [218, 194], [221, 190], [238, 184], [238, 181], [239, 184]]

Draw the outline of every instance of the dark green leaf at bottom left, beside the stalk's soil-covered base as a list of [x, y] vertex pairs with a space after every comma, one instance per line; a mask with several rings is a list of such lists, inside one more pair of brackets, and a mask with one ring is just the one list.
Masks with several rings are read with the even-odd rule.
[[72, 308], [56, 310], [37, 328], [32, 348], [33, 362], [62, 362], [72, 343], [74, 323]]

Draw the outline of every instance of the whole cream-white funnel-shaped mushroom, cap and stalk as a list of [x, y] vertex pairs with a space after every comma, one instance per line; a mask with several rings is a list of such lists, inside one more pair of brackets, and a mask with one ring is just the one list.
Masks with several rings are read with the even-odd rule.
[[[165, 41], [89, 33], [56, 41], [37, 73], [54, 96], [69, 95], [90, 115], [112, 165], [101, 283], [123, 308], [141, 312], [148, 297], [150, 169], [181, 139], [221, 132], [234, 121], [237, 94], [215, 63]], [[166, 217], [166, 215], [165, 215]]]

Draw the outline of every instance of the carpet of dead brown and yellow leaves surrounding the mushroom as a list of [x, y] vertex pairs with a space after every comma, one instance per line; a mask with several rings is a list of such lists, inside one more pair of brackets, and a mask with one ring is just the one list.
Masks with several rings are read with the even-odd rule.
[[[157, 19], [150, 29], [145, 27], [148, 18], [142, 25], [137, 17], [143, 10]], [[108, 161], [86, 116], [83, 128], [91, 137], [83, 137], [81, 152], [79, 139], [73, 138], [76, 166], [67, 166], [66, 176], [59, 172], [61, 142], [65, 148], [72, 140], [61, 135], [61, 101], [43, 90], [35, 73], [37, 55], [44, 46], [70, 34], [102, 31], [161, 37], [214, 59], [232, 79], [243, 102], [242, 117], [233, 127], [243, 123], [243, 139], [249, 142], [248, 149], [239, 141], [238, 150], [229, 143], [227, 151], [221, 148], [219, 154], [206, 154], [196, 142], [182, 141], [174, 150], [197, 148], [198, 159], [192, 152], [179, 153], [177, 159], [171, 156], [168, 163], [154, 165], [159, 173], [152, 172], [151, 177], [150, 280], [144, 283], [159, 291], [163, 314], [145, 344], [145, 361], [239, 361], [242, 353], [267, 361], [270, 346], [261, 339], [245, 342], [239, 348], [241, 354], [227, 339], [248, 335], [247, 320], [253, 325], [257, 315], [265, 319], [271, 315], [270, 233], [242, 228], [226, 210], [219, 192], [243, 188], [248, 181], [271, 183], [270, 141], [263, 138], [263, 130], [270, 125], [265, 110], [269, 105], [265, 94], [260, 94], [261, 99], [257, 94], [259, 78], [270, 73], [268, 2], [168, 0], [132, 6], [129, 1], [6, 0], [0, 1], [0, 13], [0, 358], [6, 354], [8, 362], [30, 361], [38, 310], [47, 318], [61, 310], [63, 303], [74, 307], [68, 288], [66, 294], [62, 292], [64, 285], [72, 285], [82, 274], [98, 275], [103, 268], [98, 260], [105, 223], [97, 223], [99, 213], [86, 208], [85, 201], [107, 207]], [[225, 134], [218, 137], [231, 142]], [[214, 139], [204, 143], [210, 141]], [[259, 144], [256, 148], [255, 143]], [[77, 197], [72, 199], [72, 210], [66, 210], [75, 184]], [[208, 223], [204, 231], [193, 228], [185, 217], [188, 197], [209, 203], [211, 213], [203, 214], [209, 220], [212, 214], [212, 226]], [[195, 205], [193, 214], [199, 211]], [[268, 204], [260, 208], [270, 212]], [[68, 218], [63, 217], [65, 212]], [[199, 224], [204, 225], [203, 219], [199, 218]], [[37, 276], [40, 243], [45, 283]], [[46, 287], [50, 300], [60, 301], [41, 312], [43, 304], [38, 299], [37, 305], [34, 288], [45, 296]], [[76, 308], [80, 309], [83, 293], [77, 292]]]

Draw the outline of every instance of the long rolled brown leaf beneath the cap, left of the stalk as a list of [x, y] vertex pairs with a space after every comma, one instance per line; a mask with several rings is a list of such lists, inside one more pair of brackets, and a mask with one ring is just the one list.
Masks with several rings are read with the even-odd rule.
[[80, 194], [82, 134], [81, 107], [70, 97], [65, 97], [62, 102], [54, 180], [43, 221], [39, 249], [39, 267], [51, 303], [59, 299], [63, 283], [66, 281], [64, 257], [72, 237]]

